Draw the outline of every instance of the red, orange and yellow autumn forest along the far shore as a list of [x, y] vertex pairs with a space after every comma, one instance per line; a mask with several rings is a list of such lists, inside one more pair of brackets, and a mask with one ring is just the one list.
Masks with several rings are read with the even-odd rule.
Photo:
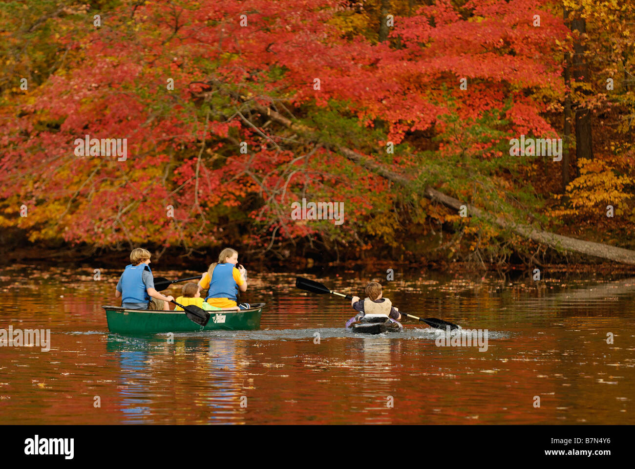
[[634, 25], [615, 0], [5, 1], [0, 244], [635, 264]]

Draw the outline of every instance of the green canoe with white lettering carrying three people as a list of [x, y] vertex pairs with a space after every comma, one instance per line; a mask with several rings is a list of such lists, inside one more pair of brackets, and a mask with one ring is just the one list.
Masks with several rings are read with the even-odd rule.
[[184, 311], [149, 311], [102, 306], [108, 329], [118, 334], [159, 334], [160, 332], [200, 332], [201, 330], [257, 330], [265, 303], [254, 303], [250, 309], [209, 311], [205, 327], [190, 321]]

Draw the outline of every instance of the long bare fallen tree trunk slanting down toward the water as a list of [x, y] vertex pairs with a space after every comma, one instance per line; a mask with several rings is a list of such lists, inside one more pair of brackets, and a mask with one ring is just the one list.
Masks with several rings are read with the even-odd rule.
[[[215, 85], [222, 86], [222, 83], [215, 81]], [[238, 93], [231, 92], [231, 94], [234, 98], [242, 102], [245, 102], [247, 100], [244, 96], [238, 95]], [[287, 128], [290, 128], [295, 132], [315, 132], [307, 126], [294, 123], [293, 121], [291, 121], [291, 119], [284, 117], [282, 114], [274, 111], [269, 106], [258, 104], [257, 102], [250, 102], [250, 105], [253, 109], [260, 112], [260, 114], [267, 116], [267, 118], [271, 119], [272, 121], [275, 121]], [[354, 163], [357, 163], [358, 165], [361, 165], [374, 173], [377, 173], [385, 179], [391, 180], [392, 182], [400, 184], [401, 186], [405, 186], [408, 188], [411, 187], [411, 181], [403, 175], [387, 170], [381, 165], [374, 163], [373, 161], [368, 161], [368, 158], [362, 156], [356, 151], [345, 147], [339, 147], [338, 150], [349, 160], [354, 161]], [[613, 247], [602, 243], [594, 243], [592, 241], [577, 240], [576, 238], [570, 238], [569, 236], [549, 233], [549, 231], [538, 231], [537, 229], [529, 225], [516, 224], [500, 217], [494, 218], [491, 215], [483, 212], [483, 210], [481, 210], [480, 208], [468, 205], [467, 203], [462, 203], [460, 200], [443, 194], [436, 189], [433, 189], [432, 187], [425, 188], [424, 196], [431, 200], [443, 203], [443, 205], [446, 205], [446, 207], [451, 207], [455, 210], [459, 210], [462, 205], [465, 205], [467, 207], [467, 214], [470, 216], [487, 219], [488, 221], [493, 222], [502, 228], [511, 229], [511, 231], [514, 231], [514, 233], [520, 236], [523, 236], [532, 241], [536, 241], [537, 243], [547, 245], [556, 250], [577, 252], [578, 254], [591, 255], [594, 257], [601, 257], [602, 259], [609, 259], [610, 261], [635, 265], [635, 251], [633, 250]]]

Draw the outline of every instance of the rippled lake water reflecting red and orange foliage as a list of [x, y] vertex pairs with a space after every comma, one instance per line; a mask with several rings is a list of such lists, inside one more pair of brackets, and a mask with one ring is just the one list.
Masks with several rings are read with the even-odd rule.
[[[290, 273], [250, 273], [243, 301], [267, 303], [262, 330], [173, 343], [110, 334], [101, 306], [117, 304], [119, 273], [0, 271], [0, 329], [51, 330], [50, 351], [1, 344], [3, 423], [635, 424], [635, 279], [406, 272], [387, 282], [402, 311], [487, 329], [479, 351], [437, 346], [439, 331], [413, 320], [402, 334], [345, 332], [349, 302], [295, 289]], [[378, 275], [308, 277], [361, 296]]]

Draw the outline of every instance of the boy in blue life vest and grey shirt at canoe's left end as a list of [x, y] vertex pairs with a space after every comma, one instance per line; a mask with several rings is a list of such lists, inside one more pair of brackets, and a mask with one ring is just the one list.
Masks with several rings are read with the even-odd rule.
[[163, 296], [154, 289], [154, 277], [149, 265], [150, 252], [143, 248], [133, 249], [130, 262], [121, 274], [115, 292], [116, 298], [121, 297], [121, 307], [170, 311], [168, 302], [174, 297]]

